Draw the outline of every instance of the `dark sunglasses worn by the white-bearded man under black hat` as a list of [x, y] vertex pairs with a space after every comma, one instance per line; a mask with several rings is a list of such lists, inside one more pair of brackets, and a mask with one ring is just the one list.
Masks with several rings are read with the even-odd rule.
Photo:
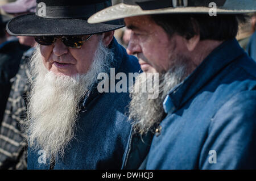
[[89, 40], [93, 35], [89, 35], [86, 39], [83, 36], [35, 36], [35, 41], [40, 45], [52, 45], [56, 39], [61, 39], [64, 45], [71, 48], [81, 48], [85, 41]]

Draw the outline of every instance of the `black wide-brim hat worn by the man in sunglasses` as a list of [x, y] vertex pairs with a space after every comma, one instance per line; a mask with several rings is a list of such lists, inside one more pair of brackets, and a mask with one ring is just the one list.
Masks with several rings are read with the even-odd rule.
[[110, 0], [37, 0], [35, 14], [11, 19], [6, 30], [12, 36], [91, 35], [117, 30], [122, 21], [89, 24], [87, 19], [112, 5]]

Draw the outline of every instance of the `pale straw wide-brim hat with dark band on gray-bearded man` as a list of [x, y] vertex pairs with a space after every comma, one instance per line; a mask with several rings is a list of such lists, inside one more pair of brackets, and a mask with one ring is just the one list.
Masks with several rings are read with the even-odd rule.
[[[216, 5], [216, 6], [215, 6]], [[256, 11], [256, 0], [124, 0], [92, 15], [89, 23], [154, 14], [244, 14]]]

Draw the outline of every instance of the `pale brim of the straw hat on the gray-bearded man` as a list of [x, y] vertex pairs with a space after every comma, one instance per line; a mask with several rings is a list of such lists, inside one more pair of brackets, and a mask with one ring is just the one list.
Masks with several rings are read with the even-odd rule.
[[[227, 9], [217, 8], [217, 14], [244, 14], [255, 12], [253, 9]], [[141, 7], [135, 5], [126, 5], [119, 3], [118, 5], [110, 6], [104, 10], [98, 11], [96, 14], [90, 16], [88, 23], [102, 23], [110, 20], [117, 20], [128, 18], [132, 16], [154, 15], [154, 14], [177, 14], [177, 13], [195, 13], [195, 14], [208, 14], [212, 7], [176, 7], [157, 10], [142, 10]]]

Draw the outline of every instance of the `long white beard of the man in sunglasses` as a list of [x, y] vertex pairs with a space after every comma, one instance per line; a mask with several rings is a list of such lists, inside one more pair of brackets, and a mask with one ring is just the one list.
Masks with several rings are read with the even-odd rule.
[[69, 77], [46, 70], [40, 50], [31, 60], [31, 92], [28, 97], [26, 132], [31, 149], [46, 151], [46, 158], [63, 158], [74, 138], [79, 104], [89, 95], [97, 75], [109, 72], [113, 53], [100, 41], [88, 73]]

